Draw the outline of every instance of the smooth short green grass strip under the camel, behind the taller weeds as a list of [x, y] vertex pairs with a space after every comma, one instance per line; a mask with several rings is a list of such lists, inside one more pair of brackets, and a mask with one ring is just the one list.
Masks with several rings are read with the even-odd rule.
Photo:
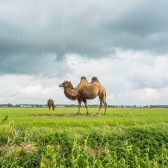
[[[90, 113], [95, 114], [97, 108], [90, 108]], [[8, 115], [15, 125], [26, 128], [50, 127], [67, 129], [69, 127], [89, 128], [104, 126], [144, 126], [150, 124], [168, 123], [168, 109], [164, 108], [109, 108], [107, 115], [103, 111], [98, 116], [31, 116], [31, 114], [63, 114], [76, 113], [77, 108], [57, 108], [54, 112], [47, 108], [0, 108], [0, 121]], [[81, 109], [85, 114], [85, 109]]]

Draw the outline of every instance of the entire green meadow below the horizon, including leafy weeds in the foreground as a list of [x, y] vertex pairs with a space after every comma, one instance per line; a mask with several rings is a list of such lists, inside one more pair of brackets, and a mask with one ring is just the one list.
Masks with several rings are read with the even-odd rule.
[[168, 167], [168, 109], [76, 111], [0, 108], [0, 167]]

